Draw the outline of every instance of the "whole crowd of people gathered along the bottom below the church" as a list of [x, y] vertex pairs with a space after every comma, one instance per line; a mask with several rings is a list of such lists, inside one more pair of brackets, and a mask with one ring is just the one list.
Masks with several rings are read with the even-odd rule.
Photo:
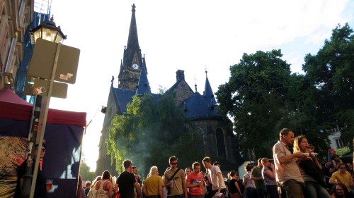
[[162, 176], [152, 166], [147, 178], [142, 180], [132, 161], [125, 160], [122, 163], [125, 171], [116, 180], [104, 171], [93, 182], [86, 182], [86, 197], [354, 198], [352, 164], [343, 163], [333, 149], [329, 149], [328, 160], [321, 164], [307, 137], [295, 137], [287, 128], [280, 131], [280, 140], [273, 147], [273, 159], [264, 157], [258, 159], [256, 166], [247, 164], [243, 178], [236, 171], [229, 171], [224, 178], [221, 164], [212, 163], [208, 156], [202, 163], [195, 161], [192, 168], [184, 169], [178, 168], [178, 159], [171, 156], [169, 165]]

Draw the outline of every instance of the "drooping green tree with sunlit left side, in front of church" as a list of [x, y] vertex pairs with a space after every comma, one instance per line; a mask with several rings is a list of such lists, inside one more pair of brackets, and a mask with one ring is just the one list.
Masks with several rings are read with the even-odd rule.
[[185, 154], [202, 141], [196, 141], [197, 137], [188, 132], [185, 124], [187, 121], [176, 106], [173, 94], [159, 96], [158, 103], [149, 95], [133, 97], [132, 103], [127, 104], [127, 114], [113, 118], [106, 140], [108, 154], [118, 164], [117, 171], [123, 171], [121, 164], [125, 159], [132, 160], [141, 174], [147, 174], [151, 166], [158, 166], [159, 172], [164, 173], [172, 155], [190, 164], [195, 159], [202, 159], [203, 155], [196, 157], [198, 151]]

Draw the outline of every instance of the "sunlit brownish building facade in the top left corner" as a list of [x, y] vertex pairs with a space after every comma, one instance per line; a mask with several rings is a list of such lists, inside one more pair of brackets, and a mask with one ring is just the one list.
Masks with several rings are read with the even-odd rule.
[[15, 89], [25, 54], [26, 27], [33, 21], [33, 1], [0, 1], [0, 89]]

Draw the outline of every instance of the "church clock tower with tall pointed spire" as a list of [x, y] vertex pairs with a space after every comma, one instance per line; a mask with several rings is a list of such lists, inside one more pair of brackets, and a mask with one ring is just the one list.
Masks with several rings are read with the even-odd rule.
[[137, 22], [135, 20], [135, 4], [132, 5], [132, 19], [127, 46], [124, 49], [123, 61], [120, 63], [118, 88], [136, 90], [139, 76], [144, 66], [142, 51], [137, 38]]

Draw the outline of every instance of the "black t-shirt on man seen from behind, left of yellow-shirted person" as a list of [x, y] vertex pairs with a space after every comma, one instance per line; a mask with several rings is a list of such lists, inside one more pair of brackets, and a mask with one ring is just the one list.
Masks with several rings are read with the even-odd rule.
[[135, 176], [133, 173], [129, 173], [124, 171], [120, 173], [118, 177], [118, 186], [120, 197], [122, 198], [134, 198], [134, 183], [137, 182], [135, 180]]

